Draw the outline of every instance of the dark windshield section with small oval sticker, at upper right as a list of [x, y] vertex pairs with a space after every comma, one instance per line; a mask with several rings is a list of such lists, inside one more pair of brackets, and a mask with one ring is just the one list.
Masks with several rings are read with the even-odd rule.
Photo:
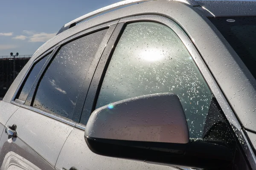
[[256, 78], [256, 17], [210, 18]]

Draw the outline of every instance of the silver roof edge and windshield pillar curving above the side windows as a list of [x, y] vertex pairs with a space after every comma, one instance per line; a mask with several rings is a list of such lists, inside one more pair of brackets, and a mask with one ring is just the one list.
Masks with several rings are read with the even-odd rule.
[[[54, 44], [85, 28], [132, 15], [148, 13], [161, 14], [177, 21], [186, 31], [195, 43], [210, 71], [212, 71], [213, 76], [230, 102], [230, 105], [234, 106], [233, 109], [239, 116], [240, 121], [246, 128], [256, 131], [256, 127], [250, 124], [248, 120], [256, 119], [256, 114], [253, 112], [253, 108], [256, 107], [256, 80], [215, 26], [212, 25], [207, 17], [202, 16], [202, 13], [198, 14], [193, 8], [194, 7], [188, 4], [176, 1], [159, 0], [112, 11], [81, 23], [78, 26], [74, 26], [53, 37], [41, 46], [29, 61], [28, 65], [31, 64], [32, 60], [44, 51], [47, 51], [47, 49], [51, 48]], [[200, 26], [200, 29], [198, 26]], [[11, 100], [27, 68], [28, 66], [25, 66], [23, 71], [16, 78], [4, 98], [5, 101]]]

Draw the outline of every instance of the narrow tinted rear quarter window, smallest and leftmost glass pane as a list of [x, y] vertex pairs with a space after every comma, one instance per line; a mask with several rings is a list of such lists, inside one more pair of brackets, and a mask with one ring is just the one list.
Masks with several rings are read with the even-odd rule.
[[32, 88], [32, 85], [35, 82], [35, 79], [37, 78], [39, 72], [44, 66], [44, 63], [49, 58], [50, 54], [43, 57], [39, 60], [31, 69], [29, 76], [25, 80], [25, 84], [23, 85], [22, 91], [20, 91], [20, 95], [18, 97], [19, 100], [25, 101], [27, 96], [29, 95], [30, 89]]

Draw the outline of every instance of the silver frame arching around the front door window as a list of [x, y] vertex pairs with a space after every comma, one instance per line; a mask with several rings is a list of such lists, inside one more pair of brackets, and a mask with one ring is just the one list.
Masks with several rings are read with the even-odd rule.
[[[199, 71], [201, 72], [202, 76], [204, 77], [205, 82], [207, 82], [207, 85], [209, 86], [210, 90], [212, 91], [212, 94], [217, 99], [219, 105], [221, 106], [223, 112], [225, 113], [225, 116], [228, 118], [229, 122], [234, 125], [233, 130], [236, 133], [236, 136], [238, 137], [241, 130], [241, 125], [238, 119], [236, 118], [236, 115], [234, 114], [231, 107], [227, 108], [227, 105], [230, 106], [230, 104], [227, 102], [227, 99], [225, 98], [224, 94], [222, 93], [221, 89], [218, 87], [217, 82], [215, 81], [214, 77], [212, 76], [211, 72], [207, 68], [207, 65], [205, 64], [204, 60], [202, 59], [201, 55], [199, 54], [198, 50], [195, 48], [194, 43], [192, 40], [188, 37], [186, 32], [173, 20], [159, 16], [159, 15], [140, 15], [140, 16], [134, 16], [134, 17], [126, 17], [121, 20], [119, 20], [117, 27], [122, 27], [120, 29], [120, 32], [115, 33], [115, 37], [118, 37], [118, 39], [114, 42], [113, 48], [109, 49], [109, 56], [108, 57], [102, 57], [100, 64], [96, 68], [95, 73], [97, 75], [94, 75], [92, 79], [92, 84], [89, 88], [87, 98], [84, 103], [84, 108], [87, 108], [86, 110], [83, 110], [84, 115], [90, 115], [96, 105], [99, 91], [103, 82], [103, 79], [105, 77], [105, 72], [108, 68], [108, 64], [111, 60], [113, 51], [118, 43], [119, 37], [121, 37], [122, 32], [125, 29], [125, 25], [128, 23], [135, 23], [135, 22], [154, 22], [154, 23], [160, 23], [164, 26], [169, 27], [172, 29], [172, 31], [177, 35], [177, 37], [180, 38], [180, 40], [185, 45], [187, 51], [191, 55], [192, 59], [194, 60], [195, 64], [197, 65]], [[104, 68], [104, 69], [102, 69]], [[99, 76], [99, 74], [101, 76]], [[95, 88], [97, 87], [97, 88]], [[93, 99], [93, 102], [90, 102]], [[89, 111], [90, 110], [90, 111]], [[90, 112], [90, 113], [89, 113]], [[80, 121], [81, 123], [81, 121]]]

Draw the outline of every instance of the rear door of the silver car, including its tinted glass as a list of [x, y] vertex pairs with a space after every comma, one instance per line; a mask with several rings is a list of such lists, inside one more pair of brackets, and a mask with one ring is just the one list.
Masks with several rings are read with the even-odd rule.
[[85, 97], [79, 93], [87, 93], [86, 75], [109, 32], [104, 28], [77, 36], [35, 62], [13, 101], [20, 108], [6, 123], [0, 141], [1, 170], [55, 169], [61, 148], [81, 116], [79, 103]]

